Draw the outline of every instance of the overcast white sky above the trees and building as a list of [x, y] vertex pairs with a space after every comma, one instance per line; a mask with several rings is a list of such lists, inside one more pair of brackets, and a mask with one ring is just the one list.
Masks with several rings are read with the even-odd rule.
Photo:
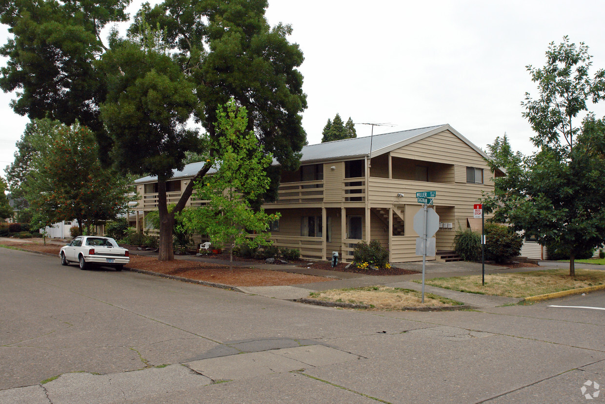
[[[537, 91], [525, 66], [542, 66], [548, 44], [569, 35], [589, 45], [593, 73], [605, 68], [602, 1], [269, 0], [266, 15], [271, 25], [291, 24], [290, 42], [304, 53], [309, 144], [339, 113], [344, 121], [396, 125], [374, 134], [450, 124], [481, 148], [506, 132], [515, 150], [529, 154], [532, 131], [520, 102]], [[0, 93], [2, 168], [27, 122], [13, 113], [11, 98]], [[593, 109], [605, 114], [605, 106]], [[370, 135], [367, 125], [356, 130]]]

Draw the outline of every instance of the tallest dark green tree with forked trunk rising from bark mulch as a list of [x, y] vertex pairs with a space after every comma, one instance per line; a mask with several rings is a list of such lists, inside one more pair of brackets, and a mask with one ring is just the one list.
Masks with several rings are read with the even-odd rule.
[[[302, 53], [298, 45], [287, 41], [291, 32], [289, 26], [269, 27], [264, 17], [266, 7], [267, 2], [259, 0], [171, 0], [154, 8], [144, 5], [137, 14], [136, 24], [129, 30], [129, 39], [114, 41], [116, 53], [113, 54], [112, 45], [112, 51], [104, 57], [111, 63], [112, 55], [118, 56], [125, 46], [132, 47], [130, 44], [136, 42], [155, 43], [139, 56], [122, 58], [114, 64], [108, 82], [121, 82], [129, 90], [110, 93], [102, 111], [114, 142], [137, 146], [120, 148], [122, 158], [134, 167], [143, 164], [142, 157], [148, 156], [148, 173], [158, 177], [160, 260], [173, 258], [174, 217], [185, 207], [195, 180], [210, 168], [209, 164], [204, 165], [183, 190], [174, 209], [169, 211], [165, 202], [165, 183], [172, 175], [171, 168], [183, 167], [185, 151], [199, 151], [204, 146], [201, 141], [194, 142], [191, 133], [184, 129], [182, 118], [186, 111], [204, 127], [209, 139], [215, 141], [221, 136], [216, 128], [217, 108], [234, 98], [238, 106], [246, 107], [249, 114], [247, 130], [255, 133], [265, 150], [273, 153], [281, 167], [287, 170], [298, 167], [299, 151], [306, 140], [300, 115], [307, 105], [306, 96], [302, 93], [302, 75], [296, 70], [302, 63]], [[149, 41], [149, 27], [161, 28], [155, 28], [151, 35], [154, 41]], [[140, 63], [140, 70], [132, 69], [131, 79], [147, 81], [155, 94], [146, 89], [143, 91], [158, 102], [140, 104], [145, 118], [150, 119], [129, 121], [121, 118], [123, 113], [132, 111], [130, 107], [124, 107], [124, 97], [134, 105], [144, 94], [120, 76], [127, 74], [122, 64], [137, 64], [137, 59], [145, 62]], [[165, 64], [163, 70], [154, 65], [159, 62]], [[170, 68], [169, 63], [172, 64]], [[167, 71], [172, 72], [170, 76], [166, 75]], [[163, 75], [165, 85], [152, 84], [155, 78], [151, 75]], [[110, 85], [110, 91], [113, 91], [111, 88]], [[195, 97], [194, 104], [185, 96], [183, 88], [188, 88], [189, 94]], [[112, 110], [114, 113], [109, 112]], [[124, 126], [129, 125], [128, 122], [137, 126], [124, 136]], [[145, 136], [158, 140], [147, 142]], [[181, 137], [174, 142], [178, 150], [173, 149], [167, 156], [168, 151], [157, 145], [170, 144], [176, 137]], [[149, 153], [145, 148], [149, 148]], [[212, 156], [215, 150], [209, 148], [206, 152]], [[161, 160], [157, 168], [153, 156]], [[162, 156], [168, 157], [168, 164]], [[272, 177], [278, 178], [277, 175]], [[273, 185], [275, 188], [276, 182]]]

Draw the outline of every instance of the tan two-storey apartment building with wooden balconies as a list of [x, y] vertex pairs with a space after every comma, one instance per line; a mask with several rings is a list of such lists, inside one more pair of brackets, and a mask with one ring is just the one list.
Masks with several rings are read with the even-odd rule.
[[[305, 146], [299, 170], [282, 173], [279, 200], [263, 205], [268, 213], [281, 213], [272, 239], [308, 259], [338, 251], [345, 261], [352, 260], [360, 240], [378, 239], [389, 249], [390, 262], [421, 260], [412, 225], [421, 207], [416, 192], [436, 191], [437, 251], [451, 251], [456, 229], [468, 226], [482, 191], [494, 190], [485, 158], [450, 125]], [[202, 165], [174, 174], [166, 184], [168, 204], [177, 202]], [[141, 198], [137, 210], [156, 210], [157, 179], [134, 184]], [[202, 203], [194, 195], [188, 206]]]

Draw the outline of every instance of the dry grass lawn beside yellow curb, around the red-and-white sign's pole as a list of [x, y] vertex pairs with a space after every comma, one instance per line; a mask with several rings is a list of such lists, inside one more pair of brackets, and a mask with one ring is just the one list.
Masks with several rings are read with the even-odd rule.
[[[420, 281], [414, 280], [420, 283]], [[468, 293], [491, 294], [506, 297], [529, 297], [564, 290], [605, 285], [605, 271], [575, 270], [575, 277], [569, 277], [569, 270], [531, 271], [485, 276], [485, 286], [481, 276], [457, 276], [426, 280], [427, 285]]]

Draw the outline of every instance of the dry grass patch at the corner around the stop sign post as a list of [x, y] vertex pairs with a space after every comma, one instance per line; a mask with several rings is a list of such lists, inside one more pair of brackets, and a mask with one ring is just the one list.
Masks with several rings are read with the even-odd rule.
[[425, 293], [424, 303], [422, 294], [415, 290], [389, 288], [387, 286], [365, 286], [364, 288], [332, 289], [310, 294], [312, 299], [324, 302], [350, 303], [368, 305], [376, 310], [405, 310], [411, 307], [445, 307], [462, 305], [456, 300]]

